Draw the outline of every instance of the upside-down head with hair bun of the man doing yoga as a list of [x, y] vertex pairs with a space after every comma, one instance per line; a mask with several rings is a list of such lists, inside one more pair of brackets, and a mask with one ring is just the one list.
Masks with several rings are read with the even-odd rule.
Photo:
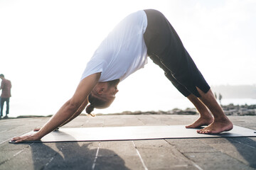
[[119, 79], [97, 83], [88, 96], [90, 105], [87, 106], [86, 112], [91, 113], [94, 108], [108, 108], [118, 92], [118, 84]]

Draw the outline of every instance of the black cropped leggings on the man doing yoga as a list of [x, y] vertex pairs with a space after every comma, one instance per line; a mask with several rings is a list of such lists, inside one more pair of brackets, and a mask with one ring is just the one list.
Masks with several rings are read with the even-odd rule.
[[144, 11], [147, 16], [144, 33], [147, 55], [164, 70], [166, 77], [183, 96], [194, 94], [200, 97], [196, 87], [207, 93], [210, 86], [183, 47], [171, 23], [159, 11]]

